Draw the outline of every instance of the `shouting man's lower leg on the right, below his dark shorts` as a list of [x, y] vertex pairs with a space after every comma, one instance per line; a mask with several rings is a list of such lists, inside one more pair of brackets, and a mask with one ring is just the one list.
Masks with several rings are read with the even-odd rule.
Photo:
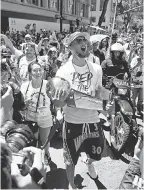
[[88, 175], [92, 178], [92, 179], [96, 179], [98, 178], [98, 173], [95, 170], [94, 164], [93, 163], [89, 163], [89, 158], [84, 158], [83, 162], [87, 165], [88, 167]]

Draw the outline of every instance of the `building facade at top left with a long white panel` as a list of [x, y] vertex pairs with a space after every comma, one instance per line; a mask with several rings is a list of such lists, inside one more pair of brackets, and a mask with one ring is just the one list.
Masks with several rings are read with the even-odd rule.
[[[61, 4], [62, 3], [62, 4]], [[1, 30], [25, 30], [28, 26], [60, 30], [60, 12], [63, 29], [69, 30], [76, 20], [88, 25], [91, 0], [1, 0]]]

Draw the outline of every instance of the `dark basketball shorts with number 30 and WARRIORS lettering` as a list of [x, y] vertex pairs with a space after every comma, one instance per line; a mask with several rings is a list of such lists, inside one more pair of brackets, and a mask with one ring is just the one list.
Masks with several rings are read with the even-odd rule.
[[73, 124], [65, 122], [63, 128], [64, 161], [76, 165], [81, 152], [100, 160], [104, 148], [104, 133], [99, 123]]

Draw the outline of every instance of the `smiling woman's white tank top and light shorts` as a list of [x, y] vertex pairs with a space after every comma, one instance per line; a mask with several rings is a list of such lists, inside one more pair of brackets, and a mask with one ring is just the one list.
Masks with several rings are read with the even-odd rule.
[[42, 128], [51, 127], [53, 125], [50, 111], [50, 99], [46, 94], [46, 84], [47, 81], [43, 80], [37, 113], [36, 106], [40, 88], [33, 88], [31, 82], [25, 82], [21, 86], [24, 100], [31, 100], [28, 109], [25, 111], [25, 117], [27, 120], [38, 122], [38, 125]]

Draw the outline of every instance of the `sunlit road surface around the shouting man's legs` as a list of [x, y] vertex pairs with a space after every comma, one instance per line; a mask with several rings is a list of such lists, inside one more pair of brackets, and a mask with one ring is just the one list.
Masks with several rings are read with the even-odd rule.
[[[68, 180], [65, 172], [63, 160], [62, 142], [53, 139], [50, 153], [53, 162], [57, 165], [47, 173], [47, 184], [50, 189], [68, 189]], [[99, 180], [94, 181], [87, 175], [87, 167], [82, 162], [85, 153], [81, 154], [75, 171], [75, 183], [83, 189], [117, 189], [128, 167], [121, 160], [114, 160], [109, 146], [105, 143], [103, 158], [101, 161], [94, 162], [99, 174]]]

